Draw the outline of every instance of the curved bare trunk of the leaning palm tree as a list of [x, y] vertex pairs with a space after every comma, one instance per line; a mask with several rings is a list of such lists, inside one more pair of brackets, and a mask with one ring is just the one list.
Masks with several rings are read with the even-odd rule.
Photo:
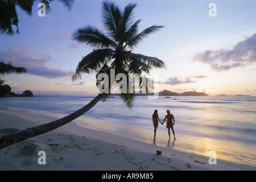
[[67, 115], [64, 118], [57, 119], [56, 121], [52, 121], [44, 125], [30, 127], [28, 129], [18, 131], [14, 134], [4, 135], [2, 138], [0, 138], [0, 149], [20, 142], [22, 140], [47, 133], [48, 131], [57, 129], [60, 126], [63, 126], [73, 121], [74, 119], [80, 117], [82, 114], [86, 113], [86, 111], [90, 110], [94, 105], [96, 105], [97, 102], [104, 97], [104, 95], [105, 93], [98, 94], [98, 96], [90, 101], [89, 104], [75, 111], [74, 113]]

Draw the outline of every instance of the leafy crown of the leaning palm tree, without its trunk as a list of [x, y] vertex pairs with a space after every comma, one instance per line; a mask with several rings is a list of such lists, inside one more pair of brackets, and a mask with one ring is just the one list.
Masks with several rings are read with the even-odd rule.
[[[106, 73], [109, 78], [108, 88], [110, 91], [113, 86], [118, 84], [118, 81], [110, 82], [111, 69], [115, 70], [114, 77], [118, 73], [124, 73], [129, 79], [128, 75], [131, 78], [138, 78], [142, 72], [149, 73], [152, 67], [164, 68], [163, 61], [156, 57], [131, 52], [147, 35], [162, 28], [162, 26], [151, 26], [138, 34], [138, 25], [141, 20], [135, 22], [133, 20], [135, 7], [135, 4], [130, 3], [121, 11], [114, 4], [103, 3], [106, 32], [104, 33], [93, 26], [86, 26], [79, 28], [73, 34], [73, 39], [77, 42], [89, 44], [94, 48], [93, 52], [80, 61], [73, 80], [81, 78], [82, 73], [96, 73], [96, 78], [100, 73]], [[97, 86], [100, 83], [101, 81], [97, 81]], [[144, 86], [142, 89], [150, 87], [150, 85], [143, 84], [142, 81], [139, 86]], [[128, 84], [126, 88], [126, 92], [119, 93], [119, 95], [127, 106], [131, 107], [135, 97], [134, 90], [129, 90]], [[108, 97], [109, 93], [104, 96]]]

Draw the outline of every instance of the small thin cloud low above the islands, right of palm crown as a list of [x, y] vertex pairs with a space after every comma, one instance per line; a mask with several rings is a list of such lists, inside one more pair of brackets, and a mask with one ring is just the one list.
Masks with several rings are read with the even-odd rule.
[[208, 78], [207, 76], [204, 75], [197, 75], [197, 76], [186, 76], [186, 77], [171, 77], [167, 78], [166, 81], [161, 82], [163, 84], [169, 84], [169, 85], [180, 85], [180, 84], [190, 84], [190, 83], [195, 83], [197, 81], [192, 80], [192, 78]]

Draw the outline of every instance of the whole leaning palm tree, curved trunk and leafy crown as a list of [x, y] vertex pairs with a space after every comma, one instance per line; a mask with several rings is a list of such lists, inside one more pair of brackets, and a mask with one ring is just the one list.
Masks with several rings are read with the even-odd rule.
[[[141, 20], [133, 21], [133, 10], [135, 6], [135, 4], [130, 3], [121, 11], [114, 4], [103, 3], [103, 18], [106, 33], [98, 30], [96, 27], [86, 26], [79, 28], [73, 34], [73, 39], [77, 40], [77, 42], [88, 44], [94, 48], [93, 52], [86, 55], [80, 61], [76, 69], [76, 74], [72, 77], [73, 80], [81, 78], [83, 73], [96, 73], [96, 77], [100, 73], [106, 73], [109, 76], [111, 69], [115, 70], [115, 75], [125, 73], [126, 75], [130, 74], [136, 77], [137, 74], [135, 73], [149, 73], [151, 68], [165, 67], [163, 61], [156, 57], [144, 56], [132, 52], [133, 48], [137, 47], [138, 43], [147, 35], [162, 28], [162, 26], [151, 26], [138, 33], [138, 24]], [[101, 81], [97, 81], [96, 84], [98, 85], [100, 83]], [[110, 83], [108, 91], [112, 86], [117, 84], [117, 81]], [[135, 94], [130, 92], [119, 94], [127, 106], [131, 107]], [[73, 119], [80, 117], [97, 104], [98, 101], [105, 100], [108, 96], [109, 92], [100, 93], [88, 105], [67, 117], [18, 131], [14, 134], [5, 135], [0, 138], [0, 148], [63, 126], [73, 121]]]

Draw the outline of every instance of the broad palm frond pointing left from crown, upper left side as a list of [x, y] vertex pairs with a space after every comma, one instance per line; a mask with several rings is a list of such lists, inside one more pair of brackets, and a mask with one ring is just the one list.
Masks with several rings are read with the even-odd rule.
[[98, 30], [96, 27], [86, 26], [84, 28], [79, 28], [73, 34], [73, 40], [77, 42], [90, 44], [94, 48], [109, 48], [114, 47], [115, 43], [113, 40], [109, 39], [104, 35], [103, 32]]

